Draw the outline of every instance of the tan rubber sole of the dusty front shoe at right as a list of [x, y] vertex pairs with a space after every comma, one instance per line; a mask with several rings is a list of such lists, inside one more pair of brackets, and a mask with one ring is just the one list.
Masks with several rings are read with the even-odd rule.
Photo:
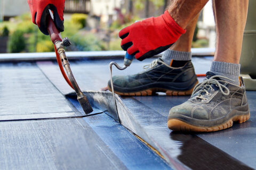
[[230, 128], [233, 126], [233, 122], [238, 122], [238, 123], [243, 123], [249, 120], [250, 118], [250, 113], [247, 115], [237, 115], [227, 122], [217, 125], [217, 126], [212, 126], [212, 127], [203, 127], [203, 126], [195, 126], [191, 125], [185, 122], [182, 122], [177, 119], [171, 119], [167, 122], [167, 126], [170, 130], [173, 131], [181, 131], [181, 132], [214, 132], [214, 131], [219, 131], [223, 129]]

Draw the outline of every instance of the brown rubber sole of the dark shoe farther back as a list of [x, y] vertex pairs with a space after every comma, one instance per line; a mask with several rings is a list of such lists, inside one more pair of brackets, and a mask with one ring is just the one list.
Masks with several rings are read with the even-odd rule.
[[[198, 81], [196, 82], [196, 84], [198, 84]], [[115, 94], [121, 95], [121, 96], [151, 96], [151, 95], [154, 95], [156, 92], [165, 92], [167, 96], [188, 96], [192, 94], [194, 87], [187, 91], [168, 90], [168, 89], [162, 89], [162, 88], [149, 88], [146, 90], [141, 90], [136, 92], [119, 92], [115, 90]], [[108, 86], [108, 90], [112, 91], [111, 87]]]

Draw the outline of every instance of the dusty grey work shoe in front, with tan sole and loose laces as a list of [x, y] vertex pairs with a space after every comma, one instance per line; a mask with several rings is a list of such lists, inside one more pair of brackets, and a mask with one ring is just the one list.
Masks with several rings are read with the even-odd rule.
[[226, 77], [206, 73], [197, 84], [191, 98], [171, 108], [168, 128], [175, 131], [212, 132], [227, 129], [233, 122], [243, 123], [250, 118], [243, 79], [241, 86], [229, 83]]

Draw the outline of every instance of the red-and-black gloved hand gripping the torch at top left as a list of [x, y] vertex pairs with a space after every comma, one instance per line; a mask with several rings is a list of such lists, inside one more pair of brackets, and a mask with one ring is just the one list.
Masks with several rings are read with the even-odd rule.
[[39, 30], [45, 35], [47, 32], [47, 16], [49, 9], [53, 11], [54, 23], [57, 29], [64, 31], [63, 11], [65, 7], [65, 0], [28, 0], [28, 5], [31, 12], [32, 22], [38, 25]]

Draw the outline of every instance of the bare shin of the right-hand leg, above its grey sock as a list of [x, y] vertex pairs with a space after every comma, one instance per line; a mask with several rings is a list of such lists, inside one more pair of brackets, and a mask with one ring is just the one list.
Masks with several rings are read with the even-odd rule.
[[214, 61], [239, 64], [248, 0], [213, 0], [216, 22]]

